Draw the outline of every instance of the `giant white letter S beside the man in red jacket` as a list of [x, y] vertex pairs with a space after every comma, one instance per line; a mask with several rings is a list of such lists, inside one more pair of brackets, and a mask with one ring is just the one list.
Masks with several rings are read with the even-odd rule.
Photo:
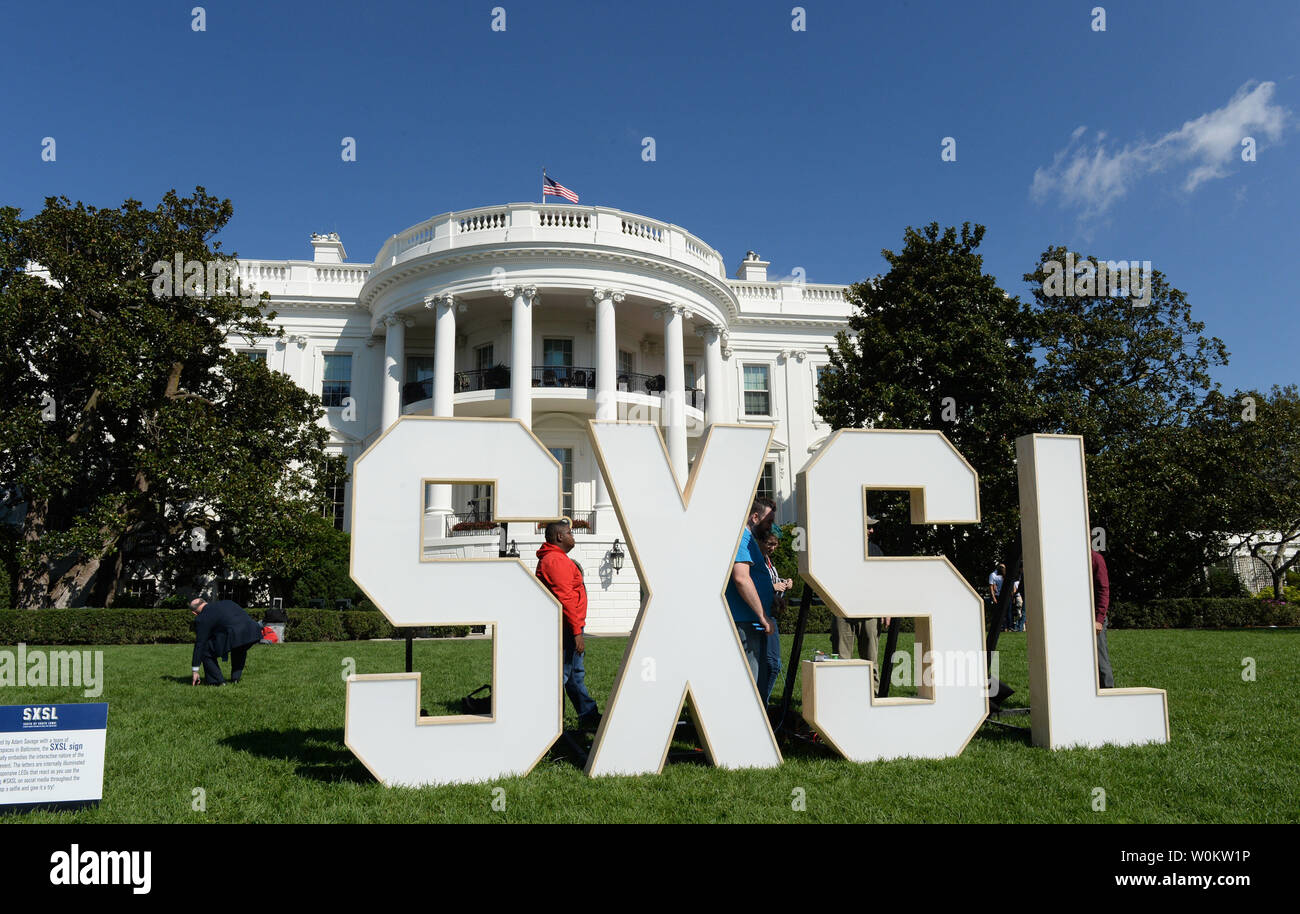
[[512, 419], [407, 416], [352, 469], [352, 577], [394, 625], [493, 623], [493, 716], [420, 716], [420, 675], [347, 680], [344, 742], [386, 785], [528, 774], [559, 738], [560, 606], [519, 559], [422, 559], [424, 486], [491, 482], [497, 520], [560, 511], [560, 468]]

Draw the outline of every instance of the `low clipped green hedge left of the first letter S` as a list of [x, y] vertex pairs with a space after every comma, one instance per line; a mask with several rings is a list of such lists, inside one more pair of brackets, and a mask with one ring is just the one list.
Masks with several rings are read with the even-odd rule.
[[[285, 640], [365, 641], [402, 637], [380, 612], [286, 610]], [[260, 615], [252, 610], [254, 618]], [[416, 637], [464, 637], [469, 625], [413, 629]], [[0, 645], [166, 645], [194, 644], [188, 610], [3, 610]]]

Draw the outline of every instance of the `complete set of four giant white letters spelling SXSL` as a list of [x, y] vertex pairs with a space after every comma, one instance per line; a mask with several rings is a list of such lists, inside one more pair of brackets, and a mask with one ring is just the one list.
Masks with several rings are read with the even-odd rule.
[[[724, 597], [771, 426], [714, 424], [684, 486], [654, 425], [589, 428], [646, 595], [586, 772], [662, 771], [688, 698], [714, 764], [779, 766]], [[1164, 690], [1097, 688], [1082, 438], [1026, 436], [1017, 452], [1035, 745], [1166, 742]], [[346, 742], [384, 784], [524, 775], [560, 736], [559, 602], [523, 559], [425, 559], [421, 545], [426, 484], [489, 484], [495, 520], [546, 521], [560, 481], [514, 419], [407, 416], [358, 458], [358, 585], [398, 627], [494, 627], [490, 716], [421, 716], [419, 673], [348, 677]], [[840, 616], [914, 618], [926, 657], [983, 658], [983, 601], [946, 558], [867, 558], [866, 489], [910, 491], [916, 524], [979, 523], [975, 471], [941, 433], [840, 430], [798, 475], [801, 575]], [[640, 675], [647, 664], [654, 676]], [[858, 762], [958, 755], [988, 714], [975, 677], [924, 676], [915, 698], [878, 699], [864, 660], [806, 662], [802, 675], [805, 718]]]

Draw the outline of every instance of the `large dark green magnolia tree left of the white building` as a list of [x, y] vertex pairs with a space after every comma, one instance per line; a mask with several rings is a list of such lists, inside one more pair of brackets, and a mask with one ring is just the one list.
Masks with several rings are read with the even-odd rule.
[[20, 606], [112, 605], [136, 571], [182, 586], [268, 573], [281, 558], [264, 543], [322, 504], [337, 467], [320, 400], [225, 347], [278, 335], [222, 277], [233, 259], [212, 239], [231, 213], [203, 187], [153, 209], [0, 209], [0, 486], [22, 514]]

